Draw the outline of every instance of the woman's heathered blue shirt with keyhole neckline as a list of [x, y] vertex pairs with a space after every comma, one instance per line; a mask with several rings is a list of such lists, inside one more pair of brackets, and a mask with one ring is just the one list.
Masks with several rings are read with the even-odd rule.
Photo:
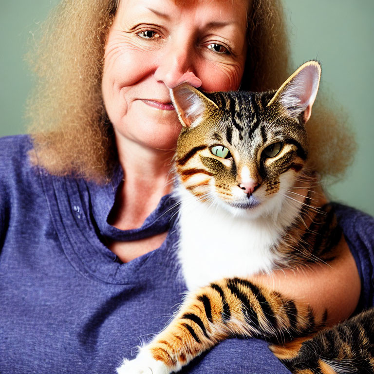
[[[51, 176], [32, 166], [28, 136], [0, 139], [0, 373], [114, 374], [167, 324], [186, 285], [176, 261], [176, 202], [164, 196], [144, 224], [107, 223], [112, 182]], [[337, 206], [373, 305], [374, 220]], [[120, 263], [104, 243], [168, 231], [160, 248]], [[289, 373], [260, 339], [228, 339], [183, 373]]]

